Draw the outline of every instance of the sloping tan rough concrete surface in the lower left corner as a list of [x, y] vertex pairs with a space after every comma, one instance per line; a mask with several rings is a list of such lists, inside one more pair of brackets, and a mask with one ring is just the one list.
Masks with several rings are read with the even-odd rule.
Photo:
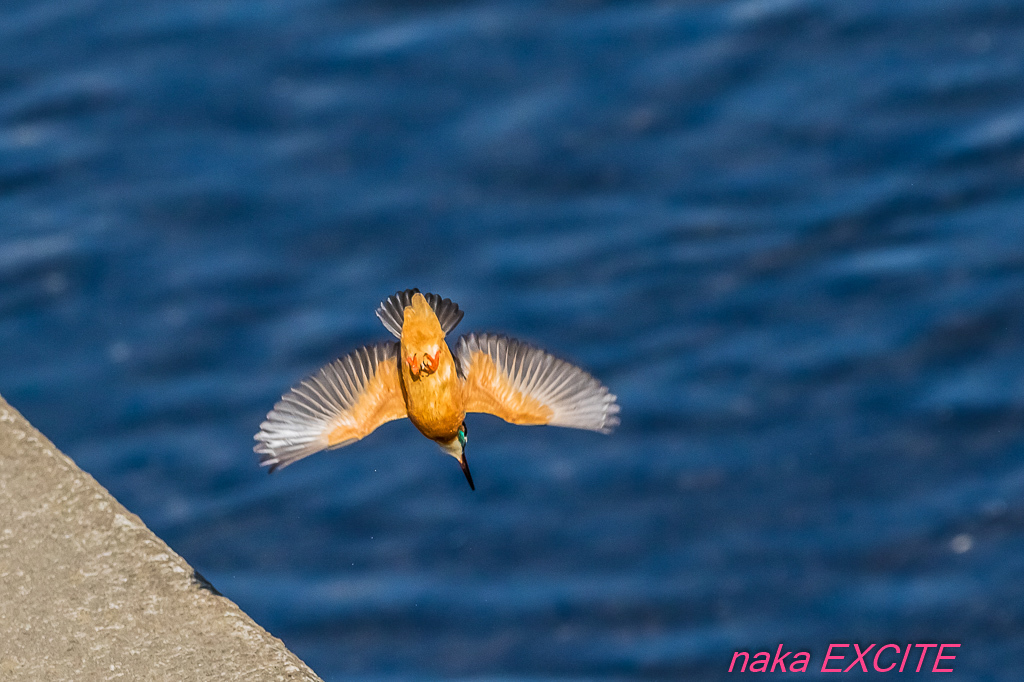
[[0, 680], [318, 680], [0, 398]]

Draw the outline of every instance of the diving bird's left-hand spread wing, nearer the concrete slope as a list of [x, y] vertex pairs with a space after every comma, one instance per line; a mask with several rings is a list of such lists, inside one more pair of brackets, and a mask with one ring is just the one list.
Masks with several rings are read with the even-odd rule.
[[397, 357], [397, 343], [366, 346], [299, 382], [260, 424], [253, 447], [260, 465], [273, 471], [408, 417]]

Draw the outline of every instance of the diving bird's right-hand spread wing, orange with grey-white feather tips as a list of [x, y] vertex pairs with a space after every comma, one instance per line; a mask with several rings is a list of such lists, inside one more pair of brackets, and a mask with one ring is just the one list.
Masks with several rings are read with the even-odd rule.
[[521, 341], [492, 334], [459, 339], [466, 412], [513, 424], [551, 424], [610, 433], [618, 404], [594, 377]]

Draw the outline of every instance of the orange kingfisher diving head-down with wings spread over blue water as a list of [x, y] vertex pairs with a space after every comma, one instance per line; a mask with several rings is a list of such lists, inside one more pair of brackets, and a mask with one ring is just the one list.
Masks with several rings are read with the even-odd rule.
[[398, 342], [359, 348], [285, 393], [255, 436], [260, 464], [272, 472], [408, 417], [459, 462], [475, 491], [466, 462], [466, 413], [601, 433], [618, 424], [615, 396], [601, 382], [539, 348], [468, 334], [453, 354], [444, 337], [463, 314], [451, 299], [418, 289], [389, 297], [377, 316]]

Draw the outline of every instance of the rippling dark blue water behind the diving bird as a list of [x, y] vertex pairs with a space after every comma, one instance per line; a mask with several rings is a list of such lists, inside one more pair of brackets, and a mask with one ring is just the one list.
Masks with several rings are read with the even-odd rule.
[[[1022, 215], [1021, 2], [0, 5], [0, 393], [327, 680], [1022, 679]], [[622, 427], [268, 477], [412, 286]]]

